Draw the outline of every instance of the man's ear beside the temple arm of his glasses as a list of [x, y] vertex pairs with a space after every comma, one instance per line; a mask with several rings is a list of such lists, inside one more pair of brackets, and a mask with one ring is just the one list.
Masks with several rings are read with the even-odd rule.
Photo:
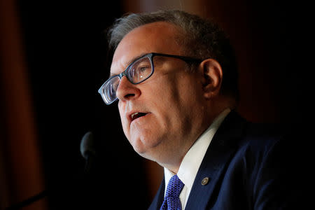
[[201, 64], [202, 90], [204, 97], [211, 99], [221, 90], [223, 71], [221, 65], [215, 59], [205, 59]]

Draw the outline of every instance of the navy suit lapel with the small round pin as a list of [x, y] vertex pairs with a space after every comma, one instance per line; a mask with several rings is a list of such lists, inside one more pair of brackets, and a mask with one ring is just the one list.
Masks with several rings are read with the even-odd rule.
[[202, 160], [186, 209], [206, 209], [211, 202], [211, 196], [216, 197], [214, 189], [225, 171], [225, 166], [235, 153], [237, 139], [241, 136], [245, 122], [234, 111], [225, 118]]

